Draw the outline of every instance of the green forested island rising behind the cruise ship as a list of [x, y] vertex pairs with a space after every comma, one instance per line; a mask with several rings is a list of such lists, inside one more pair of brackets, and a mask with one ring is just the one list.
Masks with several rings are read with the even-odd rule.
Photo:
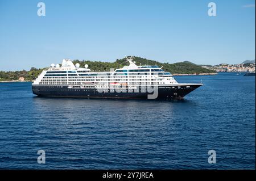
[[[172, 74], [214, 74], [216, 71], [202, 68], [200, 65], [193, 64], [189, 61], [177, 62], [175, 64], [161, 63], [154, 60], [147, 60], [146, 58], [134, 57], [134, 61], [137, 65], [158, 65], [163, 66], [164, 71], [169, 71]], [[109, 71], [111, 68], [117, 69], [128, 65], [126, 58], [117, 59], [115, 62], [101, 62], [101, 61], [89, 61], [89, 60], [73, 60], [74, 64], [79, 63], [80, 66], [85, 64], [89, 65], [92, 71]], [[33, 81], [45, 68], [31, 68], [29, 71], [0, 71], [0, 81]]]

